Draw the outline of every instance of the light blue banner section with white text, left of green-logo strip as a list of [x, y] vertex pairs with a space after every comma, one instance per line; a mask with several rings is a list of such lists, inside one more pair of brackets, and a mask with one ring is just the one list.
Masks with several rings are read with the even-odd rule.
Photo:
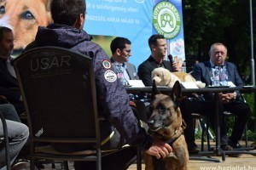
[[109, 57], [113, 37], [126, 37], [131, 41], [129, 62], [138, 66], [148, 58], [148, 38], [152, 35], [152, 1], [90, 0], [86, 3], [84, 30], [92, 35], [111, 36], [96, 41], [108, 52]]

